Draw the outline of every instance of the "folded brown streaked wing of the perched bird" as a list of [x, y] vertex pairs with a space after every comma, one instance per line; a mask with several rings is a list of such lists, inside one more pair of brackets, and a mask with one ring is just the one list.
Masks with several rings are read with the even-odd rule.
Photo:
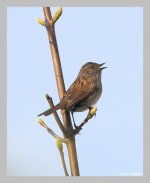
[[71, 108], [95, 92], [95, 77], [78, 76], [65, 94], [66, 108]]

